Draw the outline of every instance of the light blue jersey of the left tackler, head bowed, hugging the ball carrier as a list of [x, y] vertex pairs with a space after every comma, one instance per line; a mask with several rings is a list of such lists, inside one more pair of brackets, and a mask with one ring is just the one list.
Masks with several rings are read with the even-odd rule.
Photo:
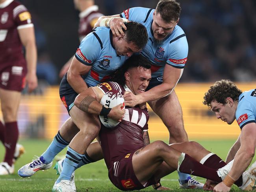
[[110, 79], [110, 75], [126, 60], [126, 56], [117, 55], [112, 37], [109, 28], [97, 27], [82, 40], [76, 51], [75, 57], [78, 61], [92, 66], [89, 73], [84, 76], [88, 86], [96, 86]]

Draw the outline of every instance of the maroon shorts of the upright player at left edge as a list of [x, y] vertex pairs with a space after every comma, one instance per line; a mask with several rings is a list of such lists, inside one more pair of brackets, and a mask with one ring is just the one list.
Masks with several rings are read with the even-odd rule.
[[4, 65], [0, 67], [0, 88], [19, 92], [24, 89], [27, 69], [26, 66], [19, 64], [23, 64], [23, 62], [18, 62], [17, 65]]

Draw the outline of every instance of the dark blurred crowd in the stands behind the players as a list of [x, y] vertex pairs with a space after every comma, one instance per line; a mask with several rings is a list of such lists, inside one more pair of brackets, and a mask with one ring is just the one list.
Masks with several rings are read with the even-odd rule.
[[[20, 1], [31, 11], [35, 23], [38, 76], [50, 84], [58, 84], [59, 70], [79, 46], [79, 12], [72, 0], [61, 4], [50, 0]], [[178, 25], [189, 43], [188, 61], [180, 81], [256, 81], [256, 1], [177, 1], [182, 6]], [[95, 0], [104, 15], [119, 14], [135, 6], [155, 8], [157, 2]], [[49, 70], [44, 72], [45, 68], [50, 75], [47, 75]]]

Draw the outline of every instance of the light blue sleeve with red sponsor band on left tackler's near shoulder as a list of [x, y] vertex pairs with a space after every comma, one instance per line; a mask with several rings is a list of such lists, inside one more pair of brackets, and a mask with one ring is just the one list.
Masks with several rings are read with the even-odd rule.
[[76, 50], [76, 59], [84, 65], [92, 66], [101, 52], [100, 42], [95, 32], [89, 33]]

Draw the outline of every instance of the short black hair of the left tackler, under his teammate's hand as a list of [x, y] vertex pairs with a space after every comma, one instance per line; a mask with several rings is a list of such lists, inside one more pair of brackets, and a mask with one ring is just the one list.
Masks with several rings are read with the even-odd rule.
[[144, 25], [137, 22], [124, 23], [127, 30], [124, 31], [127, 42], [133, 42], [138, 49], [142, 49], [148, 42], [148, 33]]

